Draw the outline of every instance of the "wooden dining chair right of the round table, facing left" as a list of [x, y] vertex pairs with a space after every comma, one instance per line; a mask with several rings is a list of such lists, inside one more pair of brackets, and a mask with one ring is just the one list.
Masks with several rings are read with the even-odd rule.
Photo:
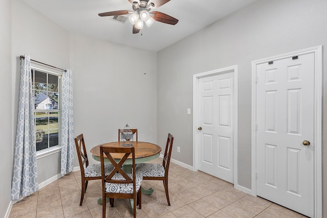
[[162, 164], [158, 163], [138, 163], [136, 167], [137, 172], [142, 172], [144, 180], [162, 180], [164, 182], [167, 203], [170, 206], [169, 192], [168, 192], [168, 172], [170, 157], [172, 154], [174, 136], [168, 134], [164, 160]]

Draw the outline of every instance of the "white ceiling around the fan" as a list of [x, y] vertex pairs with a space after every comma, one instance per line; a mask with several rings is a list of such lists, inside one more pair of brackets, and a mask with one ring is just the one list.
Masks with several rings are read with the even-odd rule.
[[108, 11], [132, 10], [128, 0], [22, 0], [68, 31], [129, 46], [159, 51], [256, 0], [171, 0], [153, 9], [178, 19], [168, 25], [155, 21], [138, 34], [132, 25], [100, 17]]

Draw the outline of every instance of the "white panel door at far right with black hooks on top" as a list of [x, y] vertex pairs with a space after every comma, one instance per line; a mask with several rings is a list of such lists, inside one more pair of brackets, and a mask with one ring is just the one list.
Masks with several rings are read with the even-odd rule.
[[257, 195], [313, 217], [314, 54], [296, 57], [257, 66]]

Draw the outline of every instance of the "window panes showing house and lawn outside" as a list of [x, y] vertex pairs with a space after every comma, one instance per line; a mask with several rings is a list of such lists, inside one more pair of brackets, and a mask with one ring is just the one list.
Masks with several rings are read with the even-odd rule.
[[60, 75], [32, 69], [36, 151], [60, 144]]

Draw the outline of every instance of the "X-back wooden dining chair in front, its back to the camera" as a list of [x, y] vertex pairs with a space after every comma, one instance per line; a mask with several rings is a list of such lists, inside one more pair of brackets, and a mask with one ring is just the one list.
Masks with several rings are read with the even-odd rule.
[[[122, 153], [123, 158], [116, 163], [111, 154]], [[123, 171], [122, 165], [128, 156], [132, 155], [132, 173]], [[108, 159], [114, 168], [106, 176], [104, 172], [105, 159]], [[135, 171], [134, 147], [105, 147], [100, 146], [101, 179], [102, 179], [102, 217], [106, 216], [106, 198], [109, 198], [111, 207], [115, 198], [133, 199], [133, 216], [136, 217], [136, 205], [141, 209], [141, 184], [143, 175]]]

